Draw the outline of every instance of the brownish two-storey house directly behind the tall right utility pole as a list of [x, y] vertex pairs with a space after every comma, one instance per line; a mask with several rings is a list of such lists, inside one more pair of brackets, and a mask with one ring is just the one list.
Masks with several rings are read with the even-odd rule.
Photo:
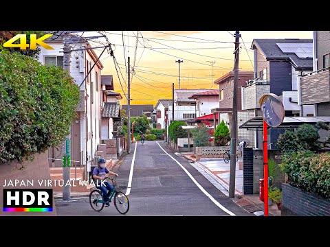
[[[241, 87], [246, 85], [246, 81], [253, 78], [253, 71], [239, 71], [239, 82], [237, 89], [237, 126], [240, 126], [251, 117], [254, 117], [254, 110], [243, 110], [241, 107]], [[219, 85], [218, 104], [211, 109], [211, 113], [219, 114], [218, 124], [224, 121], [232, 132], [232, 102], [234, 93], [234, 71], [230, 71], [214, 81]], [[238, 127], [237, 127], [238, 128]], [[249, 130], [237, 130], [239, 140], [244, 139], [248, 145], [254, 146], [254, 132]]]

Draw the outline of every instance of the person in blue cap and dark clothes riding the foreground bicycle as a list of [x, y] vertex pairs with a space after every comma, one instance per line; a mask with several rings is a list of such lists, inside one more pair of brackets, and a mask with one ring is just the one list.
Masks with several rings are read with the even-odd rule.
[[[100, 189], [103, 193], [103, 198], [104, 198], [104, 202], [105, 203], [105, 207], [108, 207], [109, 206], [109, 195], [111, 193], [111, 191], [113, 190], [113, 187], [112, 185], [110, 185], [107, 181], [103, 181], [101, 183], [101, 180], [104, 180], [105, 179], [105, 174], [111, 174], [111, 175], [114, 175], [114, 176], [118, 176], [118, 174], [116, 174], [115, 172], [111, 172], [109, 171], [109, 169], [105, 168], [105, 160], [104, 158], [100, 158], [98, 160], [98, 166], [94, 168], [94, 171], [93, 171], [93, 178], [96, 179], [96, 188]], [[102, 184], [104, 186], [102, 186]], [[100, 186], [98, 186], [100, 185]], [[108, 192], [109, 190], [109, 192]]]

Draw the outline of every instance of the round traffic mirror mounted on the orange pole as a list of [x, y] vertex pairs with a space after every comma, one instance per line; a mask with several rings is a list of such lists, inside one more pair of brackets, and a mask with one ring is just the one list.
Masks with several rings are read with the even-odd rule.
[[277, 127], [282, 124], [285, 110], [280, 97], [274, 93], [267, 93], [261, 97], [259, 104], [267, 125]]

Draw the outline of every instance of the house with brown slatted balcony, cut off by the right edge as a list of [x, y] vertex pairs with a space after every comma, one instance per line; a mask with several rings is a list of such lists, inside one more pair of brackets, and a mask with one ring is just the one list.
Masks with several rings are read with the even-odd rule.
[[330, 31], [313, 32], [313, 73], [300, 79], [300, 104], [311, 104], [314, 116], [330, 116]]

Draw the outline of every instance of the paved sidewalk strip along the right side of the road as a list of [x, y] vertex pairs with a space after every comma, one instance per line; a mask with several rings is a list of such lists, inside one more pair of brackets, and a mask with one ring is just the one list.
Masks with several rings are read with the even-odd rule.
[[[193, 161], [194, 163], [191, 163], [191, 165], [201, 172], [225, 196], [228, 196], [230, 162], [228, 164], [225, 163], [223, 158], [201, 158], [200, 161], [196, 161], [190, 153], [181, 154]], [[243, 170], [239, 169], [239, 161], [236, 162], [235, 198], [233, 201], [249, 213], [254, 213], [257, 216], [263, 215], [263, 202], [259, 200], [259, 194], [243, 195]], [[278, 210], [275, 203], [269, 206], [268, 212], [269, 215], [281, 216], [281, 211]]]

